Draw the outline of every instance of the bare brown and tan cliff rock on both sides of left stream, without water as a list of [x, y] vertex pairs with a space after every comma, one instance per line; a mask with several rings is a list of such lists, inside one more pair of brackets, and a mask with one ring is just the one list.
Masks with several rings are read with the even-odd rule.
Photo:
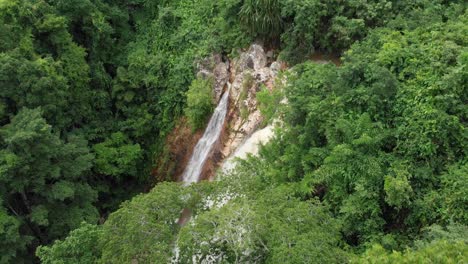
[[[230, 92], [229, 111], [224, 128], [203, 168], [203, 179], [211, 179], [219, 164], [259, 129], [263, 117], [258, 109], [257, 92], [261, 89], [273, 89], [275, 78], [282, 68], [285, 68], [285, 65], [274, 60], [273, 52], [266, 52], [258, 44], [251, 45], [245, 51], [239, 51], [239, 56], [231, 61], [214, 54], [198, 62], [197, 76], [214, 79], [214, 103], [219, 102], [224, 92]], [[201, 135], [200, 132], [187, 135], [187, 131], [186, 124], [181, 122], [167, 139], [167, 154], [172, 160], [169, 162], [172, 165], [166, 165], [162, 171], [170, 170], [166, 175], [172, 174], [174, 180], [180, 180], [194, 145]], [[180, 134], [182, 132], [183, 135]]]

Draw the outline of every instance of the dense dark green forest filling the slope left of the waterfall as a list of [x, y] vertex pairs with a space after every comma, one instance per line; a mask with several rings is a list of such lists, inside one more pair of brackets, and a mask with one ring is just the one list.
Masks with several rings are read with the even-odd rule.
[[0, 1], [2, 262], [148, 188], [194, 61], [250, 42], [233, 1], [166, 2]]

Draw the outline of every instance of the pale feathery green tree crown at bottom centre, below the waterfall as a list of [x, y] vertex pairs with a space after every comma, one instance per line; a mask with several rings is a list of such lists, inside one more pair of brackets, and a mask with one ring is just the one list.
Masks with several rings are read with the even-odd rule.
[[216, 199], [230, 201], [201, 212], [193, 223], [181, 229], [177, 241], [180, 262], [190, 261], [192, 256], [198, 262], [211, 259], [227, 263], [344, 260], [343, 252], [337, 247], [338, 223], [319, 202], [300, 201], [285, 186], [255, 189], [250, 193], [245, 190], [252, 185], [243, 183], [241, 178], [251, 178], [251, 174], [232, 176], [236, 177], [229, 180], [233, 184], [250, 187], [241, 187], [234, 196], [221, 192], [206, 198], [206, 203]]

